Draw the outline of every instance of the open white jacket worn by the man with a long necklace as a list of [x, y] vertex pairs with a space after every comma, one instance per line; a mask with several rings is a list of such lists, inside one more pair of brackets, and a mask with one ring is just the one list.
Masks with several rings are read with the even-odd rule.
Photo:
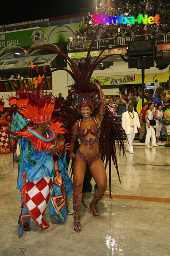
[[[140, 128], [140, 121], [139, 121], [139, 116], [138, 113], [133, 111], [133, 115], [134, 115], [134, 133], [138, 133], [138, 128]], [[124, 128], [126, 134], [131, 134], [131, 121], [129, 118], [129, 113], [128, 111], [124, 112], [122, 114], [122, 127]]]

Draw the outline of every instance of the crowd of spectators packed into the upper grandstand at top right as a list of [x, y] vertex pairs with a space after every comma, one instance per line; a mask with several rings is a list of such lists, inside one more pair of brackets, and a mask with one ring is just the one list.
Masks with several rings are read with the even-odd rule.
[[[96, 7], [96, 13], [103, 14], [106, 13], [109, 17], [120, 16], [121, 13], [124, 16], [129, 17], [133, 16], [138, 18], [138, 15], [141, 13], [143, 15], [147, 14], [149, 16], [155, 16], [159, 14], [160, 20], [159, 24], [145, 25], [145, 24], [103, 24], [99, 30], [99, 33], [96, 36], [96, 40], [107, 40], [114, 37], [123, 37], [123, 39], [117, 39], [115, 44], [125, 44], [125, 40], [128, 41], [134, 35], [147, 35], [150, 34], [150, 38], [160, 40], [162, 35], [166, 35], [170, 32], [170, 0], [140, 0], [139, 4], [131, 4], [130, 1], [127, 1], [126, 4], [123, 4], [120, 0], [119, 5], [116, 6], [115, 2], [112, 1], [112, 6], [108, 7], [100, 5]], [[85, 26], [80, 28], [79, 31], [76, 31], [75, 38], [73, 41], [85, 41], [87, 46], [92, 40], [97, 25], [92, 23], [92, 17], [88, 16]], [[101, 41], [101, 42], [102, 42]], [[103, 45], [107, 42], [103, 41]], [[87, 47], [86, 46], [86, 47]], [[79, 46], [80, 47], [80, 46]]]

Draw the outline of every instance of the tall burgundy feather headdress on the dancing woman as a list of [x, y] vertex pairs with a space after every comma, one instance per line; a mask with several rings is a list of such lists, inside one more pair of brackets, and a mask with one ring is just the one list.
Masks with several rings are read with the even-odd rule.
[[[90, 47], [88, 49], [87, 56], [82, 57], [82, 59], [79, 61], [78, 66], [73, 60], [69, 58], [69, 56], [63, 50], [59, 48], [54, 49], [54, 51], [57, 52], [58, 55], [60, 55], [65, 59], [69, 68], [55, 67], [55, 69], [53, 69], [52, 72], [57, 70], [65, 70], [71, 75], [75, 83], [69, 86], [70, 94], [79, 98], [79, 104], [78, 104], [79, 108], [80, 106], [84, 106], [84, 107], [87, 105], [91, 107], [93, 106], [96, 99], [96, 95], [99, 93], [99, 90], [96, 87], [94, 81], [91, 81], [92, 74], [94, 72], [94, 69], [97, 67], [97, 65], [99, 65], [107, 57], [111, 56], [111, 55], [107, 55], [100, 59], [103, 51], [105, 50], [104, 48], [101, 51], [101, 53], [97, 56], [97, 58], [92, 61], [92, 56], [90, 55], [90, 52], [93, 47], [94, 40], [99, 29], [100, 29], [100, 25], [96, 29], [93, 40], [91, 41]], [[80, 64], [82, 60], [85, 60], [85, 62], [83, 67], [80, 70]], [[94, 101], [93, 103], [92, 103], [92, 100]]]

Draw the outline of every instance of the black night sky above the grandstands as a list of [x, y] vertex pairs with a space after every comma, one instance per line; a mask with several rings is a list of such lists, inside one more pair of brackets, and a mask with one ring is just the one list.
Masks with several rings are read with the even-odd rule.
[[[126, 3], [127, 0], [122, 0]], [[120, 0], [115, 0], [119, 5]], [[139, 3], [139, 0], [130, 0], [130, 3]], [[39, 20], [75, 13], [94, 13], [94, 0], [30, 0], [30, 1], [1, 1], [0, 25]]]

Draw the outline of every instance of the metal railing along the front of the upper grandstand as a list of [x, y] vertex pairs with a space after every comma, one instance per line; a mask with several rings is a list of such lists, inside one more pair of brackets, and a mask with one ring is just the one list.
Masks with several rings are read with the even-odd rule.
[[[128, 44], [128, 41], [137, 41], [137, 40], [148, 40], [148, 39], [154, 39], [157, 43], [166, 43], [170, 42], [170, 32], [164, 35], [163, 33], [157, 33], [157, 34], [144, 34], [144, 35], [133, 35], [132, 37], [117, 37], [115, 38], [107, 38], [107, 39], [101, 39], [99, 41], [94, 40], [94, 45], [92, 49], [102, 49], [103, 47], [106, 47], [108, 45], [108, 48], [112, 48], [114, 46], [125, 46]], [[110, 42], [110, 44], [109, 44]], [[69, 52], [76, 51], [76, 50], [86, 50], [89, 48], [91, 43], [90, 41], [74, 41], [70, 42], [67, 46], [67, 50]]]

